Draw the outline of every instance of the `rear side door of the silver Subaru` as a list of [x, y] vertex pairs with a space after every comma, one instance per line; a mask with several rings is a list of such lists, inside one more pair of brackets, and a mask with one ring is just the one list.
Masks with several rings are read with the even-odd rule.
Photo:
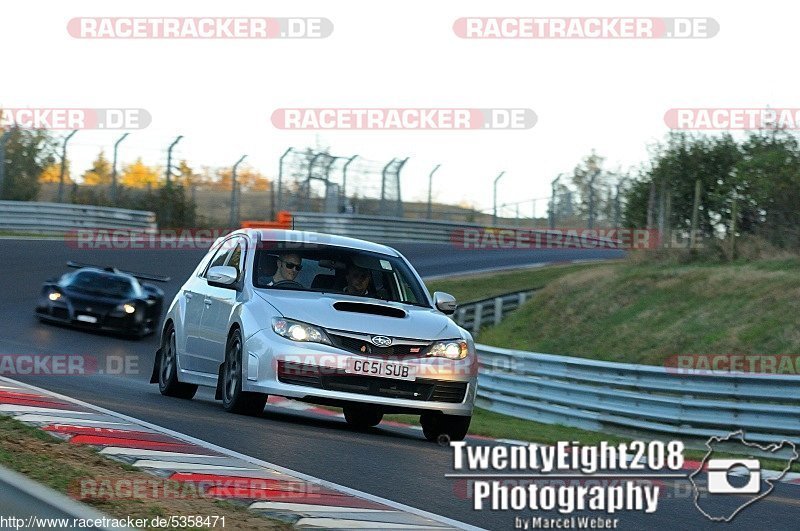
[[207, 364], [203, 360], [206, 352], [210, 349], [205, 344], [206, 337], [202, 328], [202, 319], [210, 286], [205, 275], [209, 268], [225, 265], [230, 254], [230, 245], [224, 243], [220, 245], [205, 269], [199, 275], [192, 277], [192, 280], [184, 287], [183, 297], [186, 300], [186, 315], [184, 317], [186, 348], [181, 360], [182, 369], [206, 372], [204, 367]]

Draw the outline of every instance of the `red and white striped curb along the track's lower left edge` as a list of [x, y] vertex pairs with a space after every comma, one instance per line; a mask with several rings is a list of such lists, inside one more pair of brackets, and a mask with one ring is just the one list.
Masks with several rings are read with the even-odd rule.
[[3, 377], [0, 415], [300, 529], [479, 529]]

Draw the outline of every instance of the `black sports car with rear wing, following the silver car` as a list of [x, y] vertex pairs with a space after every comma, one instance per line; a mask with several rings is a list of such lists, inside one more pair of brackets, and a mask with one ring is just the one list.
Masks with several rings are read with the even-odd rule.
[[139, 282], [167, 282], [169, 277], [67, 262], [77, 271], [42, 285], [39, 320], [94, 330], [146, 336], [159, 325], [164, 291]]

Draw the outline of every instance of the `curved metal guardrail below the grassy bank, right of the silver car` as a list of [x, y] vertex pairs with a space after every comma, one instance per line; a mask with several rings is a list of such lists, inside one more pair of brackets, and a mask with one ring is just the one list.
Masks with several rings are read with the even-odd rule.
[[476, 345], [477, 404], [592, 431], [800, 443], [800, 377], [686, 375], [679, 369]]

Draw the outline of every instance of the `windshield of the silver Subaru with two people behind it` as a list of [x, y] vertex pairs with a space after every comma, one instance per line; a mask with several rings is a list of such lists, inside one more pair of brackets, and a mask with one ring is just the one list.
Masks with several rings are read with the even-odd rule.
[[254, 268], [257, 288], [342, 293], [428, 306], [424, 288], [405, 262], [394, 256], [341, 247], [260, 249]]

